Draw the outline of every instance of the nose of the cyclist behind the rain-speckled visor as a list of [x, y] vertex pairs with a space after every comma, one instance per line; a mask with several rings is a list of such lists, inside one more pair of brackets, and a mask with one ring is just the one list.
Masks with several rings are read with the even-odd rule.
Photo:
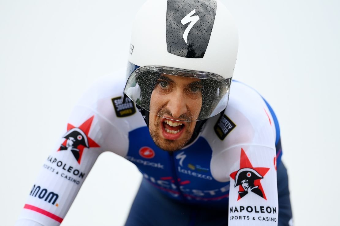
[[179, 118], [182, 114], [186, 113], [187, 106], [183, 93], [178, 90], [176, 92], [172, 92], [167, 108], [170, 110], [171, 115], [174, 118]]

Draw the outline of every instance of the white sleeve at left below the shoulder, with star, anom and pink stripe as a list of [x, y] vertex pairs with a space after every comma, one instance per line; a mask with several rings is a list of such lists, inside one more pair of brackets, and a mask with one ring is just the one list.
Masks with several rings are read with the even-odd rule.
[[[76, 106], [65, 131], [42, 164], [16, 226], [58, 226], [100, 153], [99, 117]], [[46, 135], [47, 136], [47, 135]]]

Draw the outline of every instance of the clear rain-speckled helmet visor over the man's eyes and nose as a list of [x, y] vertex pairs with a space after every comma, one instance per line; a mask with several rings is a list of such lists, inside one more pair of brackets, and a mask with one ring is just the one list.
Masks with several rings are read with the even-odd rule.
[[145, 66], [133, 71], [124, 93], [160, 117], [197, 121], [217, 115], [227, 106], [230, 81], [201, 71]]

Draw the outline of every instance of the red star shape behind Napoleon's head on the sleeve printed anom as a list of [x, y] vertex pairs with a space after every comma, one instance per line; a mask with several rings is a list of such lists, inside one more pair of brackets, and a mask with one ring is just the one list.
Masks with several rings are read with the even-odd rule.
[[[87, 148], [90, 148], [90, 147], [100, 147], [94, 140], [92, 140], [91, 138], [88, 137], [88, 132], [90, 131], [90, 128], [91, 128], [91, 124], [92, 124], [92, 121], [93, 121], [93, 118], [95, 116], [92, 116], [91, 118], [89, 118], [88, 120], [86, 120], [83, 124], [81, 124], [79, 127], [75, 127], [69, 123], [67, 123], [67, 132], [69, 132], [71, 129], [78, 129], [81, 130], [81, 132], [83, 132], [83, 134], [85, 134], [86, 139], [87, 140], [87, 145], [88, 147]], [[66, 133], [67, 134], [67, 133]], [[81, 139], [82, 136], [80, 135], [79, 136], [79, 139]], [[67, 146], [67, 139], [65, 139], [65, 141], [63, 142], [62, 146], [61, 147], [64, 147], [64, 149], [62, 150], [66, 150], [65, 147]], [[61, 150], [61, 147], [57, 150], [57, 151], [60, 151]], [[86, 146], [84, 146], [84, 144], [79, 144], [77, 145], [76, 147], [74, 147], [74, 149], [77, 149], [79, 151], [77, 151], [77, 154], [79, 153], [79, 157], [77, 158], [76, 156], [75, 159], [78, 160], [78, 163], [80, 164], [80, 161], [81, 161], [81, 158], [82, 158], [82, 155], [83, 155], [83, 151], [84, 151], [84, 148]], [[74, 155], [74, 154], [73, 154]]]

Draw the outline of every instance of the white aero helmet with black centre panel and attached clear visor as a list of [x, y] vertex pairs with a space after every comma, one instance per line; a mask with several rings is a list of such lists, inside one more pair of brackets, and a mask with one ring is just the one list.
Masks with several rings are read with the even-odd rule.
[[176, 120], [207, 119], [227, 106], [237, 49], [234, 20], [219, 0], [149, 0], [135, 18], [124, 93], [157, 114], [150, 108], [157, 84], [191, 78], [183, 98], [199, 93], [198, 117]]

